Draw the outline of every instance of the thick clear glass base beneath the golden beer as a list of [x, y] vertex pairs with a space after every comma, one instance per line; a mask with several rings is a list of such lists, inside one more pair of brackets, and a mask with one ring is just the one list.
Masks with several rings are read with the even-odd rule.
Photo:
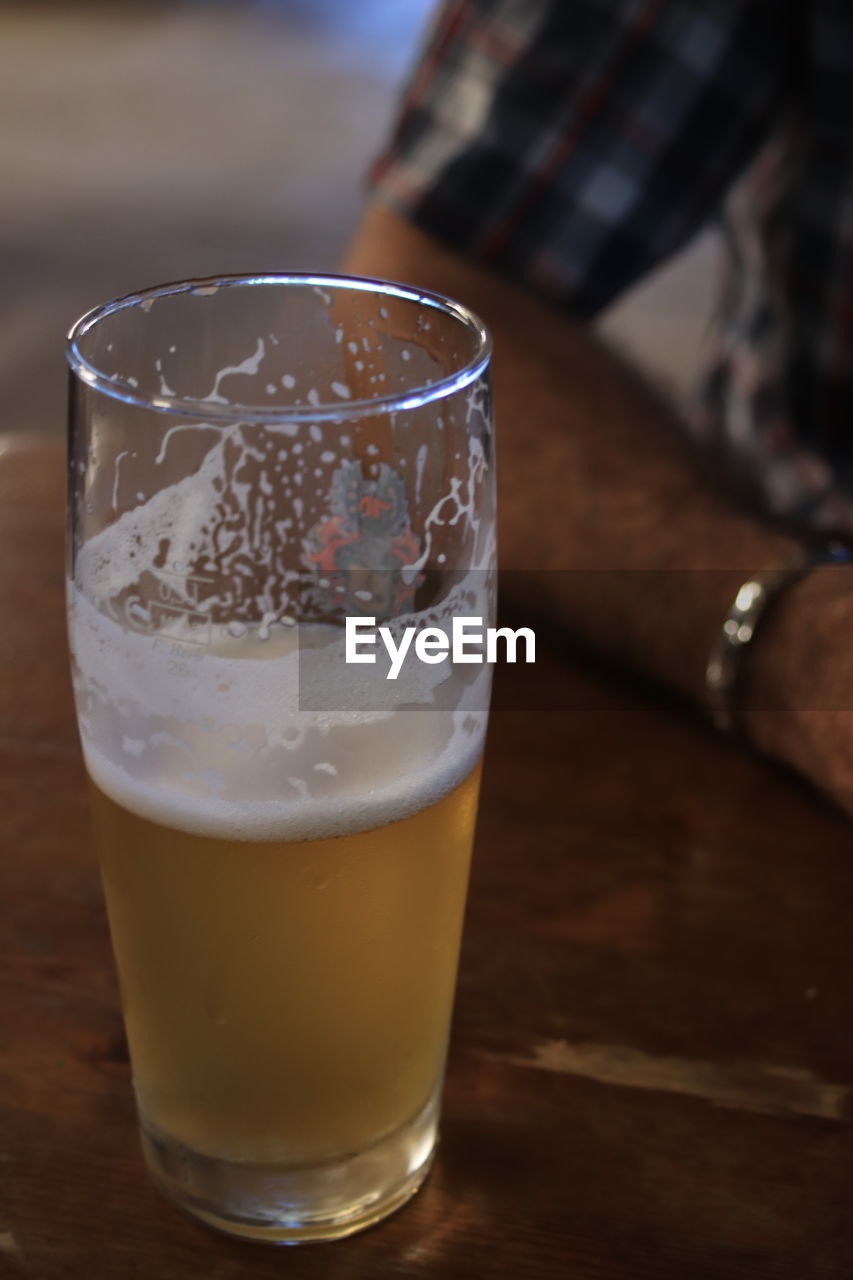
[[323, 1165], [251, 1165], [202, 1156], [141, 1119], [142, 1151], [164, 1194], [229, 1235], [272, 1244], [337, 1240], [410, 1199], [435, 1151], [441, 1089], [401, 1129]]

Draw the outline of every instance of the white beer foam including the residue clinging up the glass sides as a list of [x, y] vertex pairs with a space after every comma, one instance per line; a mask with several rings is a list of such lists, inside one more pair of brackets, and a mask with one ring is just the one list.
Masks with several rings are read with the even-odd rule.
[[[460, 675], [450, 663], [412, 660], [400, 680], [386, 681], [380, 662], [345, 663], [339, 631], [287, 626], [301, 544], [289, 520], [264, 515], [284, 481], [264, 470], [268, 454], [238, 424], [170, 428], [155, 466], [172, 434], [184, 430], [218, 433], [192, 474], [126, 509], [77, 549], [72, 669], [95, 783], [152, 822], [246, 841], [366, 831], [441, 800], [482, 754], [489, 668]], [[251, 485], [245, 460], [257, 462]], [[475, 495], [485, 461], [476, 440], [467, 462], [466, 484], [452, 479], [426, 516], [423, 554], [407, 572], [426, 563], [439, 526], [460, 521], [471, 531], [476, 567], [438, 614], [394, 618], [394, 630], [441, 621], [442, 611], [446, 617], [488, 611], [482, 570], [493, 563], [494, 544], [479, 525]], [[291, 476], [301, 479], [298, 465]], [[216, 524], [223, 494], [234, 518]], [[225, 525], [227, 540], [216, 540], [211, 529]], [[190, 566], [206, 562], [201, 552], [211, 552], [213, 541], [215, 577], [205, 579]], [[246, 563], [266, 571], [252, 599], [238, 594]], [[323, 696], [304, 696], [301, 704], [300, 694], [311, 689]]]

